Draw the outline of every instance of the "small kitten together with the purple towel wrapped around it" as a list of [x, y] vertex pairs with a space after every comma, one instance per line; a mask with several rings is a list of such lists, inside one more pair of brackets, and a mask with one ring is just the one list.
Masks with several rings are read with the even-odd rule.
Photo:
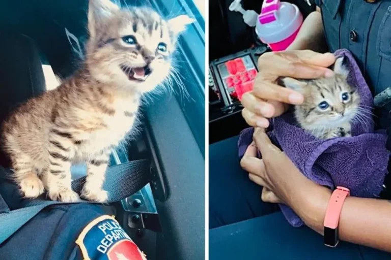
[[[336, 64], [336, 77], [311, 83], [285, 80], [291, 88], [303, 91], [307, 104], [272, 119], [268, 136], [310, 180], [330, 189], [347, 187], [352, 196], [377, 198], [388, 173], [387, 135], [375, 131], [370, 116], [372, 93], [352, 54], [344, 49], [334, 55], [343, 57], [344, 62], [343, 66]], [[240, 134], [240, 157], [253, 141], [253, 133], [254, 128], [247, 128]], [[285, 205], [280, 208], [290, 224], [303, 224], [292, 209]]]

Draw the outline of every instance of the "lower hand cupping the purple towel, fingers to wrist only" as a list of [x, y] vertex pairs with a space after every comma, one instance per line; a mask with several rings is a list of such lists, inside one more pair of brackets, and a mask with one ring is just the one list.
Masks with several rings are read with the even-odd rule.
[[[323, 196], [324, 189], [329, 192], [328, 189], [306, 178], [291, 159], [271, 143], [264, 128], [255, 128], [253, 138], [240, 165], [249, 173], [250, 180], [264, 187], [261, 199], [286, 204], [299, 215], [306, 214], [304, 209], [310, 204], [319, 204], [317, 194]], [[257, 158], [258, 149], [262, 159]]]

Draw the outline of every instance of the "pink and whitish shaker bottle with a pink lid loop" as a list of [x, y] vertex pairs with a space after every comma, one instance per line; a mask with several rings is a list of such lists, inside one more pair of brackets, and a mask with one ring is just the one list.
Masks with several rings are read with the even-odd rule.
[[303, 16], [297, 6], [280, 0], [265, 0], [256, 32], [273, 51], [285, 50], [296, 38], [302, 23]]

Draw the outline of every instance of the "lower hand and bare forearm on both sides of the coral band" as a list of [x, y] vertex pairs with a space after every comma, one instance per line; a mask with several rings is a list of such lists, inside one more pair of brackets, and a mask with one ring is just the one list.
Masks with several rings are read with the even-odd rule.
[[[257, 147], [262, 159], [256, 157]], [[302, 175], [287, 155], [270, 142], [264, 129], [256, 128], [254, 142], [247, 148], [240, 165], [252, 181], [264, 187], [263, 201], [286, 204], [306, 226], [323, 235], [324, 216], [332, 191]], [[341, 212], [339, 237], [391, 252], [390, 215], [389, 201], [350, 196]]]

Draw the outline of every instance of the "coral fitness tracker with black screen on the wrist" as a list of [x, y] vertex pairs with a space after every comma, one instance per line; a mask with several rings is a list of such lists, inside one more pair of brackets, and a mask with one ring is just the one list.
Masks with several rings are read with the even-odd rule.
[[330, 201], [327, 205], [326, 216], [324, 217], [324, 244], [329, 247], [336, 247], [340, 240], [338, 239], [338, 222], [342, 206], [346, 197], [350, 195], [350, 190], [345, 187], [338, 186], [331, 194]]

